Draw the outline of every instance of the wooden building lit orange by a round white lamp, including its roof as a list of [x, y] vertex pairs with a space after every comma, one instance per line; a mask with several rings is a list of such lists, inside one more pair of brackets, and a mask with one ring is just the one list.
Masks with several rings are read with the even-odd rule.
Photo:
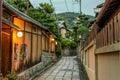
[[2, 22], [3, 75], [11, 71], [24, 71], [41, 62], [43, 51], [54, 54], [55, 41], [51, 41], [54, 35], [6, 2], [3, 2]]

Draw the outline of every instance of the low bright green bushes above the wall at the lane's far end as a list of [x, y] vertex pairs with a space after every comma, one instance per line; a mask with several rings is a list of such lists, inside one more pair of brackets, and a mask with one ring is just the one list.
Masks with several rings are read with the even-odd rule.
[[61, 46], [62, 46], [62, 49], [65, 49], [65, 48], [71, 49], [71, 48], [76, 48], [77, 44], [74, 40], [62, 38], [61, 39]]

